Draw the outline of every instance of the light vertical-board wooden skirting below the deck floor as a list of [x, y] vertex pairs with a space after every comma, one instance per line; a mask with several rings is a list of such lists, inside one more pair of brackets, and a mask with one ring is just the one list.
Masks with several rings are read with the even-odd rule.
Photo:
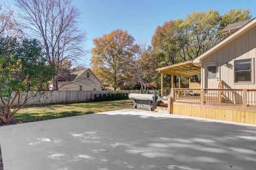
[[234, 106], [230, 107], [201, 105], [187, 102], [172, 102], [170, 105], [170, 113], [182, 116], [256, 124], [256, 110], [250, 108], [244, 109], [242, 107]]

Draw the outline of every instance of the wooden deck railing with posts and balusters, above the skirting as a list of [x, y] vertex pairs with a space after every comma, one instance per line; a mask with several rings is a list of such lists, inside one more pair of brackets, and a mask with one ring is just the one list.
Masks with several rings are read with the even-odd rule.
[[173, 88], [172, 101], [214, 105], [256, 106], [256, 89]]

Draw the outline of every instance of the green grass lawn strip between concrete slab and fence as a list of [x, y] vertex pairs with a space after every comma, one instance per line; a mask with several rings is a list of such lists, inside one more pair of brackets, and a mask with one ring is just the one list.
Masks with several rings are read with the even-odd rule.
[[25, 106], [14, 121], [37, 121], [133, 108], [133, 100]]

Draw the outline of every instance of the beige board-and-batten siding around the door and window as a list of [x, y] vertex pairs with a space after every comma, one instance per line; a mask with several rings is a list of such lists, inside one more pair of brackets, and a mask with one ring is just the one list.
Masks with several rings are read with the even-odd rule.
[[[234, 83], [234, 60], [252, 58], [253, 83]], [[204, 64], [218, 62], [220, 67], [220, 80], [224, 88], [255, 89], [256, 88], [256, 27], [245, 32], [229, 44], [223, 46], [210, 56], [202, 60], [202, 87], [206, 87]], [[228, 62], [225, 67], [224, 63]]]

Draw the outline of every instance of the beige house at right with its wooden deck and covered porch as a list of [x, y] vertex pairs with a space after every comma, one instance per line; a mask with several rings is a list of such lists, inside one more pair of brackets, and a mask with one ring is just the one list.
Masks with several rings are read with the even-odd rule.
[[[230, 24], [222, 33], [229, 35], [194, 60], [156, 69], [161, 77], [201, 75], [188, 89], [171, 88], [168, 112], [256, 124], [256, 18]], [[161, 92], [162, 84], [163, 78]]]

